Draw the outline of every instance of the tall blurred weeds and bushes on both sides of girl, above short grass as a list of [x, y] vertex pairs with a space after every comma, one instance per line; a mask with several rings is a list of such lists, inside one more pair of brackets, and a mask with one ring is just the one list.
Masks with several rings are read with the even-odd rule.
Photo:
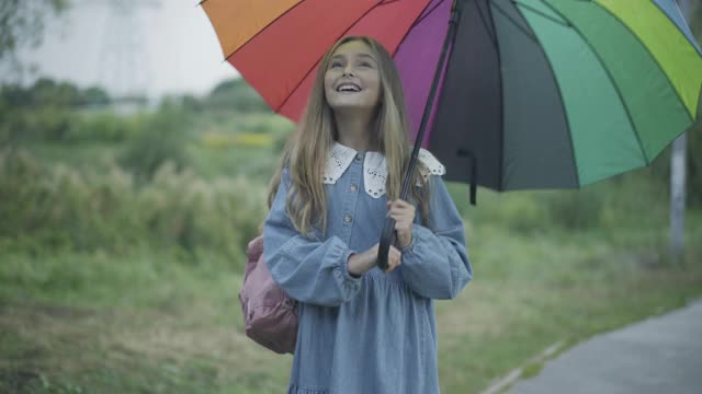
[[[264, 218], [260, 196], [293, 125], [241, 80], [129, 114], [111, 103], [99, 88], [47, 79], [0, 90], [0, 240], [34, 245], [33, 253], [37, 245], [118, 252], [146, 243], [240, 259]], [[688, 149], [688, 202], [700, 209], [701, 132], [690, 132]], [[503, 202], [476, 209], [465, 185], [452, 190], [468, 220], [529, 233], [650, 225], [667, 216], [668, 182], [666, 151], [650, 167], [581, 190], [483, 190], [480, 202]], [[237, 250], [226, 246], [235, 239]]]

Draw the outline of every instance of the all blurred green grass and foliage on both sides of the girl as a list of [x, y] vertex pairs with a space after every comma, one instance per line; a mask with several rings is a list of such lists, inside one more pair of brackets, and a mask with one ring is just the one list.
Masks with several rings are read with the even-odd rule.
[[[284, 391], [290, 358], [244, 338], [236, 294], [293, 127], [241, 80], [156, 104], [48, 79], [2, 86], [0, 391]], [[678, 265], [669, 150], [579, 190], [480, 189], [477, 207], [449, 184], [477, 280], [438, 304], [443, 391], [478, 392], [554, 341], [702, 294], [695, 127]]]

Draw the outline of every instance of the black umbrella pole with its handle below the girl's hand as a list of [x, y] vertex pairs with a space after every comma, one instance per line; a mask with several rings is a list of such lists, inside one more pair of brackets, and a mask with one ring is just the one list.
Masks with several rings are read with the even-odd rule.
[[[407, 173], [405, 174], [405, 181], [403, 183], [403, 192], [399, 197], [403, 200], [407, 200], [409, 185], [411, 184], [411, 179], [415, 174], [417, 157], [419, 155], [419, 149], [421, 148], [421, 142], [424, 139], [424, 130], [427, 129], [427, 124], [429, 123], [429, 118], [431, 116], [431, 111], [433, 108], [437, 90], [439, 89], [439, 80], [441, 79], [441, 73], [443, 72], [444, 65], [446, 62], [446, 55], [449, 54], [449, 47], [453, 43], [456, 35], [456, 28], [458, 26], [458, 19], [461, 18], [462, 5], [463, 5], [463, 0], [453, 0], [453, 5], [451, 8], [451, 19], [449, 20], [449, 30], [446, 31], [446, 36], [443, 42], [443, 47], [441, 48], [441, 56], [439, 57], [439, 62], [437, 63], [437, 70], [434, 71], [434, 79], [431, 82], [431, 89], [429, 90], [429, 100], [427, 101], [427, 105], [424, 106], [424, 114], [422, 115], [422, 118], [421, 118], [419, 132], [417, 134], [417, 139], [415, 140], [415, 148], [412, 149], [412, 154], [409, 160]], [[381, 235], [381, 244], [377, 251], [377, 265], [382, 270], [385, 270], [387, 268], [387, 254], [389, 252], [390, 245], [395, 243], [395, 239], [396, 239], [395, 220], [393, 218], [386, 218], [385, 225], [383, 227], [383, 233]]]

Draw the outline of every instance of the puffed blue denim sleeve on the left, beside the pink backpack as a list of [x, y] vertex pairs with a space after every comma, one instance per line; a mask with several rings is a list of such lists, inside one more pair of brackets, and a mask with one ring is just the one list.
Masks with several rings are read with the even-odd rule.
[[263, 224], [263, 259], [273, 280], [291, 298], [305, 303], [338, 306], [361, 288], [349, 274], [353, 251], [338, 236], [325, 242], [302, 235], [285, 213], [290, 174], [283, 171], [275, 199]]

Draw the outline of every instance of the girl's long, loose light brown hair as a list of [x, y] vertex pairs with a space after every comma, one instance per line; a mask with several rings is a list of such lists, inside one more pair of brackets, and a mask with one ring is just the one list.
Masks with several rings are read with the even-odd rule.
[[[307, 106], [297, 129], [291, 135], [283, 151], [281, 163], [273, 175], [269, 188], [269, 207], [273, 202], [284, 167], [288, 167], [292, 185], [287, 194], [285, 210], [295, 229], [305, 236], [313, 227], [322, 231], [327, 227], [327, 198], [322, 184], [322, 173], [329, 152], [338, 139], [333, 111], [325, 95], [325, 73], [331, 56], [339, 46], [353, 40], [365, 43], [378, 62], [381, 74], [381, 97], [374, 121], [375, 137], [387, 164], [386, 194], [389, 199], [398, 199], [401, 194], [404, 174], [409, 164], [411, 148], [407, 138], [409, 124], [405, 108], [405, 97], [399, 72], [390, 54], [371, 37], [348, 36], [335, 43], [325, 54]], [[421, 162], [417, 163], [422, 165]], [[417, 169], [419, 170], [419, 169]], [[429, 220], [429, 190], [419, 171], [415, 171], [412, 185], [414, 202], [420, 207], [422, 223]]]

